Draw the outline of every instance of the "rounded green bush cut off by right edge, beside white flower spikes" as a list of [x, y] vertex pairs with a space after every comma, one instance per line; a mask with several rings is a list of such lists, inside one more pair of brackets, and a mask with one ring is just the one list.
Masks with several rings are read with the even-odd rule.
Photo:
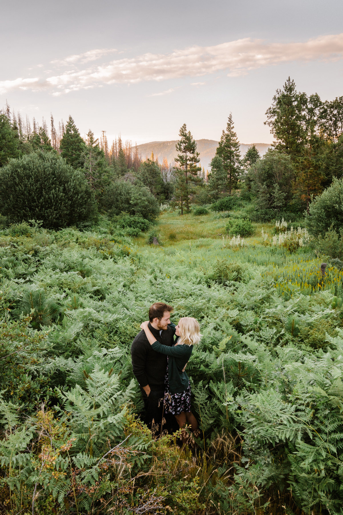
[[324, 236], [329, 229], [338, 233], [343, 228], [342, 179], [334, 178], [331, 186], [312, 200], [310, 215], [306, 215], [306, 221], [313, 236]]

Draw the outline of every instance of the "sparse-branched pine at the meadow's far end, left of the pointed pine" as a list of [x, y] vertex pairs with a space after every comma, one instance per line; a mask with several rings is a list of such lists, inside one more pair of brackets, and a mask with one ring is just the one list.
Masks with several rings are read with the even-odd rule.
[[179, 163], [179, 168], [176, 169], [176, 190], [181, 214], [183, 214], [183, 202], [186, 202], [186, 211], [189, 213], [189, 196], [195, 185], [201, 183], [201, 179], [197, 176], [198, 171], [201, 171], [201, 166], [197, 166], [200, 162], [199, 152], [196, 151], [196, 142], [193, 139], [190, 131], [187, 132], [186, 124], [179, 130], [180, 140], [176, 144], [176, 150], [180, 152], [175, 158]]

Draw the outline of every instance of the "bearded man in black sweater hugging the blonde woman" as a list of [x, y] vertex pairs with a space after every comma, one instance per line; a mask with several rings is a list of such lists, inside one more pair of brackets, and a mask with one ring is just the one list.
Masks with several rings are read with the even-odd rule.
[[[173, 307], [164, 302], [155, 302], [149, 309], [149, 329], [160, 344], [174, 345], [174, 331], [170, 324]], [[133, 373], [140, 386], [146, 407], [148, 427], [154, 434], [160, 434], [168, 426], [175, 425], [174, 417], [164, 413], [165, 375], [167, 356], [152, 350], [144, 331], [140, 331], [132, 342], [131, 358]], [[167, 426], [163, 419], [168, 421]]]

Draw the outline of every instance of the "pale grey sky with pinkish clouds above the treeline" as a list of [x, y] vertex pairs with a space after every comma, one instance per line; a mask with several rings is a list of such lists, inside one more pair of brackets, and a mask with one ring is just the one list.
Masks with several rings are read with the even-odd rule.
[[343, 95], [341, 0], [12, 0], [1, 3], [0, 108], [133, 143], [271, 143], [265, 111], [288, 76]]

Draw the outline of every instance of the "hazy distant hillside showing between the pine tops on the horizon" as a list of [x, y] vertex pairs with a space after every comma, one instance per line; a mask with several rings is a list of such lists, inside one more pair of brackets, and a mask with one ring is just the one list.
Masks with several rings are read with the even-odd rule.
[[[167, 158], [168, 163], [172, 159], [176, 157], [175, 145], [177, 140], [175, 141], [151, 141], [150, 143], [143, 143], [142, 145], [137, 145], [139, 152], [143, 159], [146, 157], [150, 158], [151, 152], [154, 152], [154, 156], [158, 157], [158, 161], [162, 162], [163, 158]], [[196, 140], [197, 151], [200, 153], [200, 164], [204, 166], [205, 170], [209, 168], [212, 157], [215, 154], [215, 149], [218, 147], [218, 141], [214, 140]], [[244, 156], [247, 151], [249, 145], [252, 143], [241, 143], [240, 149], [241, 154]], [[268, 143], [255, 143], [256, 148], [263, 156], [263, 154], [268, 150], [270, 145]]]

